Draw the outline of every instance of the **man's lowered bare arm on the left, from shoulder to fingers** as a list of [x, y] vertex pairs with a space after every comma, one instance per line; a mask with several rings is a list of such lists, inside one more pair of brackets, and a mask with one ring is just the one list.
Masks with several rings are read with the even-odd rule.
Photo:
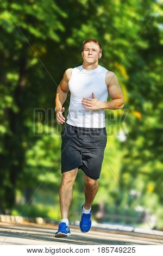
[[62, 108], [62, 105], [66, 101], [67, 94], [69, 91], [68, 88], [68, 82], [71, 78], [71, 72], [72, 69], [67, 69], [64, 73], [64, 77], [59, 83], [59, 86], [57, 87], [56, 97], [55, 97], [55, 113], [56, 113], [56, 119], [58, 124], [65, 123], [65, 118], [62, 115], [62, 112], [65, 111], [65, 108]]

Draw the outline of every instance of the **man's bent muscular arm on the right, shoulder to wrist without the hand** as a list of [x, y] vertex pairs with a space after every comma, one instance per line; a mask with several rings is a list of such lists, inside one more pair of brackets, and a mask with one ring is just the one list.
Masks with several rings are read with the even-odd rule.
[[114, 72], [108, 71], [105, 77], [106, 85], [108, 86], [108, 92], [111, 96], [110, 101], [104, 103], [105, 109], [120, 109], [124, 106], [123, 93], [118, 83], [117, 76]]

